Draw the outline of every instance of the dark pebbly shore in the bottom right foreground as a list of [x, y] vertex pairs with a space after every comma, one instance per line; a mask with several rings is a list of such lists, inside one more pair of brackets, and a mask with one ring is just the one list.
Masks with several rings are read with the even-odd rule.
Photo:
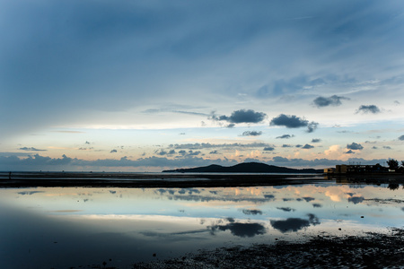
[[200, 250], [134, 268], [404, 268], [404, 230], [366, 237], [318, 236], [305, 243]]

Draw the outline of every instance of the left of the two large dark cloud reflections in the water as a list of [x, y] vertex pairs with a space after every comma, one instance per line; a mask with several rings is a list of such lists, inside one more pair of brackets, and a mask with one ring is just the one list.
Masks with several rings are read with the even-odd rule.
[[210, 229], [212, 233], [215, 233], [216, 230], [230, 230], [234, 236], [241, 238], [252, 238], [256, 235], [267, 233], [265, 226], [259, 223], [231, 222], [224, 225], [208, 226], [207, 228]]

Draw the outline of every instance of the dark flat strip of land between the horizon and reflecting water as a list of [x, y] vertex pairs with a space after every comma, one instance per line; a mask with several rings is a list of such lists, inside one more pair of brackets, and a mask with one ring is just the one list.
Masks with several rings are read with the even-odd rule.
[[321, 181], [404, 183], [403, 176], [247, 173], [0, 172], [0, 187], [254, 187]]

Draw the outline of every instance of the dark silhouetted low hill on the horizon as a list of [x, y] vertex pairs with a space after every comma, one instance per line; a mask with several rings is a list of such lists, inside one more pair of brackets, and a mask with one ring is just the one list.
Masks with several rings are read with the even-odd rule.
[[243, 162], [230, 167], [212, 164], [191, 169], [163, 170], [163, 173], [322, 173], [322, 169], [290, 169], [260, 162]]

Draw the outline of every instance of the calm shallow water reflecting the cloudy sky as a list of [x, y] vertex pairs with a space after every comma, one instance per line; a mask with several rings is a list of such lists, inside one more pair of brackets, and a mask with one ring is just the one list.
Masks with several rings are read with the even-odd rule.
[[[130, 268], [199, 248], [403, 227], [400, 187], [0, 189], [2, 268]], [[102, 265], [101, 265], [102, 267]]]

